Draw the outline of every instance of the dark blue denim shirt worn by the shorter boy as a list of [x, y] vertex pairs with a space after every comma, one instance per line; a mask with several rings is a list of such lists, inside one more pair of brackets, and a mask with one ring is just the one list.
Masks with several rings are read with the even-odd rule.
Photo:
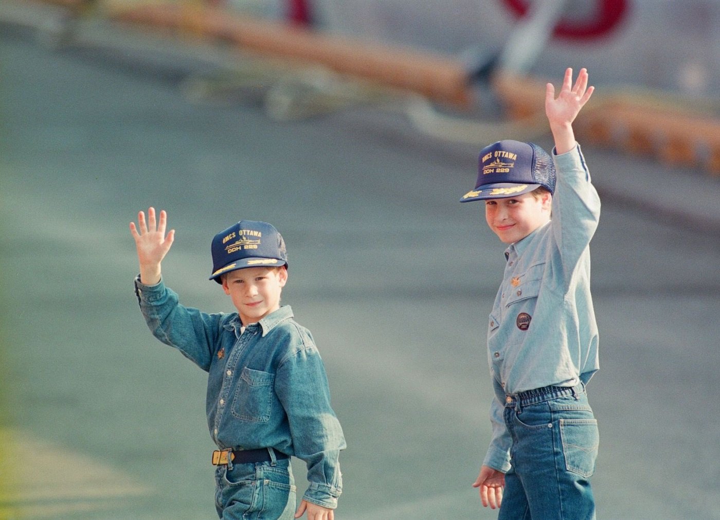
[[283, 306], [246, 328], [237, 313], [202, 313], [160, 283], [135, 279], [140, 310], [157, 339], [208, 372], [207, 425], [220, 449], [272, 447], [307, 464], [305, 500], [336, 508], [338, 456], [346, 447], [325, 367], [310, 331]]

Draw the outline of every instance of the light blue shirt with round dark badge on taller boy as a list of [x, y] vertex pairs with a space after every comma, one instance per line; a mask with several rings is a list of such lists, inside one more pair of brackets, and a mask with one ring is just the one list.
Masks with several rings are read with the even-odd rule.
[[557, 184], [552, 220], [505, 250], [503, 284], [487, 328], [495, 399], [484, 465], [510, 469], [503, 422], [507, 394], [587, 383], [598, 370], [598, 327], [590, 296], [590, 239], [600, 199], [580, 145], [553, 153]]

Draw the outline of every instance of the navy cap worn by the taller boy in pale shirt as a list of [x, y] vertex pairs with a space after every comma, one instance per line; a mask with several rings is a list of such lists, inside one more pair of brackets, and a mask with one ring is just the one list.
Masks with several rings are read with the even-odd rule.
[[555, 165], [536, 144], [498, 141], [482, 148], [478, 162], [475, 189], [460, 202], [515, 197], [541, 186], [555, 192]]

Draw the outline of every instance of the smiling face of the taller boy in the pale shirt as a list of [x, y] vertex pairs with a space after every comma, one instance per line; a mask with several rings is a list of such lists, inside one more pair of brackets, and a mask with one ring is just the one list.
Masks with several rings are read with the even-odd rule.
[[516, 243], [550, 220], [552, 195], [532, 192], [485, 201], [485, 220], [503, 243]]

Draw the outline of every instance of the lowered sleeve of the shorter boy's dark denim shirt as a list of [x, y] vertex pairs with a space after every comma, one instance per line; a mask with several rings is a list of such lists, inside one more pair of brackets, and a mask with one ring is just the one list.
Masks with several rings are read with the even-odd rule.
[[336, 508], [342, 492], [339, 455], [346, 443], [330, 407], [330, 390], [318, 349], [309, 336], [277, 370], [275, 391], [285, 408], [295, 457], [307, 464], [310, 485], [303, 499]]

